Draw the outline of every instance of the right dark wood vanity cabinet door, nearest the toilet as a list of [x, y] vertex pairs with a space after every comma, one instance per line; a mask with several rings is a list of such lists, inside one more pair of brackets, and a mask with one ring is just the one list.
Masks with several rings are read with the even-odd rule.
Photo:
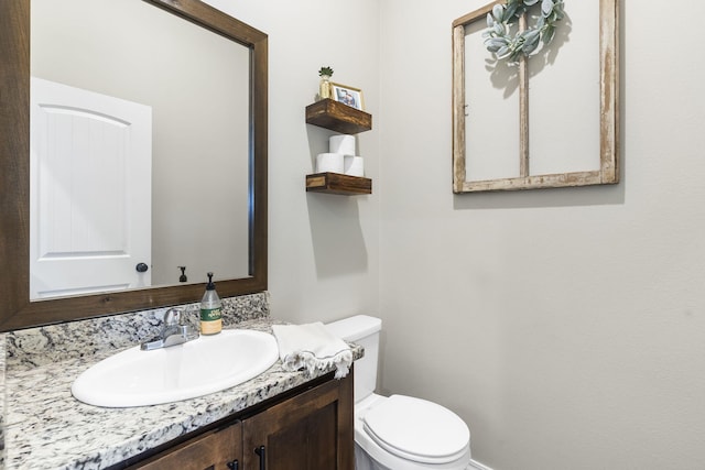
[[352, 470], [352, 371], [242, 422], [248, 470]]

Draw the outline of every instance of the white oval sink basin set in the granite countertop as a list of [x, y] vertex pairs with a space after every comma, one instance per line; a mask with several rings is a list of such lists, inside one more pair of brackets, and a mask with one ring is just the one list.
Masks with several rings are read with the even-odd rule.
[[223, 330], [152, 351], [134, 347], [82, 373], [72, 393], [96, 406], [156, 405], [218, 392], [268, 370], [279, 359], [276, 339], [254, 330]]

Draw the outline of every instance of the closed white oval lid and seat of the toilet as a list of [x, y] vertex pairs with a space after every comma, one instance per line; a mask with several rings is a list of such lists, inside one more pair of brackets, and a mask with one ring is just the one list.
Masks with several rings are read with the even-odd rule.
[[421, 398], [392, 395], [362, 417], [366, 433], [384, 450], [422, 463], [458, 459], [470, 441], [463, 419]]

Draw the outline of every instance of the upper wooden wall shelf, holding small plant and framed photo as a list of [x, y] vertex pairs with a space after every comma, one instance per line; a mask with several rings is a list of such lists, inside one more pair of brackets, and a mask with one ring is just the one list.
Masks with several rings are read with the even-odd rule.
[[326, 98], [306, 107], [306, 123], [357, 134], [372, 129], [372, 114]]

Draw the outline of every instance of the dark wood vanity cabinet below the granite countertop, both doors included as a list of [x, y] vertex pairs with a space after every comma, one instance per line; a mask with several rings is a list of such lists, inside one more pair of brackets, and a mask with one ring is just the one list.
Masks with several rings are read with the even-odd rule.
[[167, 448], [130, 469], [352, 470], [352, 372]]

